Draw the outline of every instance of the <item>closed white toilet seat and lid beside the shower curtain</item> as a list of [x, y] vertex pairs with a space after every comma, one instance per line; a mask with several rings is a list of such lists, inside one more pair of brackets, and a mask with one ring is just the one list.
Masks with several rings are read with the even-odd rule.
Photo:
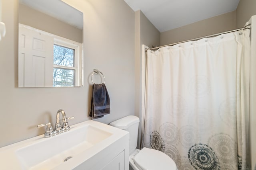
[[143, 148], [134, 156], [134, 163], [142, 170], [176, 170], [176, 164], [167, 154]]

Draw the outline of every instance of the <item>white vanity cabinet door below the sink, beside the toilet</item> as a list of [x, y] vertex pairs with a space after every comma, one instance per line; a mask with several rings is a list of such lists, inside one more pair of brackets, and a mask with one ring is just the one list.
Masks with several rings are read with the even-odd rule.
[[124, 151], [112, 159], [102, 170], [124, 170]]

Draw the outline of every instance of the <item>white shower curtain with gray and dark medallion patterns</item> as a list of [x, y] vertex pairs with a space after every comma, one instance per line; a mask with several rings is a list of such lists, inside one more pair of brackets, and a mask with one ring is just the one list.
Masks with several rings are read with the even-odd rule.
[[178, 170], [248, 168], [250, 30], [147, 51], [143, 146]]

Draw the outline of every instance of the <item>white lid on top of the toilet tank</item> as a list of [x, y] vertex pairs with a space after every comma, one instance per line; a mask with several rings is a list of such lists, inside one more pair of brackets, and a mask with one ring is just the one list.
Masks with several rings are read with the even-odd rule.
[[109, 125], [117, 127], [119, 129], [127, 129], [129, 126], [133, 125], [134, 123], [138, 123], [139, 121], [140, 119], [137, 116], [129, 115], [113, 121]]

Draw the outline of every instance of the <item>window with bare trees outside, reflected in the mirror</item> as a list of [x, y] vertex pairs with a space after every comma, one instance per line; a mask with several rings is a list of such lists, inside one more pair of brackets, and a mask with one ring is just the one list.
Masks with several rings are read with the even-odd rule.
[[54, 40], [53, 86], [76, 86], [79, 47], [66, 41]]

